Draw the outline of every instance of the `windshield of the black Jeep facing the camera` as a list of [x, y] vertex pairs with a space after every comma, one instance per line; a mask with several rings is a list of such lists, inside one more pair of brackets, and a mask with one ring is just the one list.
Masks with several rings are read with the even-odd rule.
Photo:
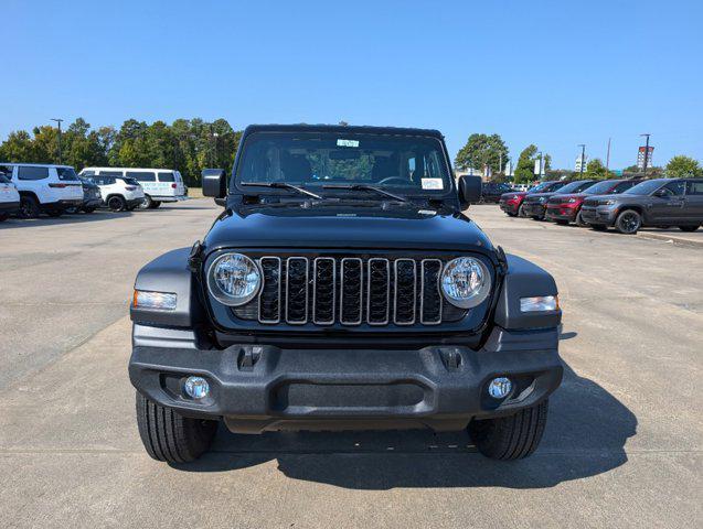
[[237, 183], [283, 182], [316, 193], [329, 184], [363, 184], [402, 195], [444, 194], [452, 184], [441, 142], [430, 137], [255, 132], [243, 152]]

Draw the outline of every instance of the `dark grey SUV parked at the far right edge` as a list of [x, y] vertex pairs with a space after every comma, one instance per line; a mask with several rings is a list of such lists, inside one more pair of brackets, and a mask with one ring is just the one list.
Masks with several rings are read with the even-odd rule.
[[641, 227], [678, 226], [695, 231], [703, 225], [703, 179], [647, 180], [621, 195], [588, 197], [582, 212], [594, 229], [615, 226], [621, 234], [637, 234]]

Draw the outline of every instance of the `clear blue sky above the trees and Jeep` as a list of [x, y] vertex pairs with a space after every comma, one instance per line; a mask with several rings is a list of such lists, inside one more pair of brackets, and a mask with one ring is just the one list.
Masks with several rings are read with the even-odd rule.
[[703, 2], [0, 0], [0, 141], [51, 118], [499, 133], [573, 169], [703, 160]]

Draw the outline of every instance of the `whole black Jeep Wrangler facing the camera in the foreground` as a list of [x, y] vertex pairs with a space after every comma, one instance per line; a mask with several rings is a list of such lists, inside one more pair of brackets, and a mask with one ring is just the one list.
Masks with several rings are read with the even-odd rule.
[[275, 430], [467, 429], [537, 446], [562, 380], [556, 284], [462, 210], [436, 130], [252, 126], [202, 241], [137, 277], [129, 377], [149, 454], [187, 462], [222, 421]]

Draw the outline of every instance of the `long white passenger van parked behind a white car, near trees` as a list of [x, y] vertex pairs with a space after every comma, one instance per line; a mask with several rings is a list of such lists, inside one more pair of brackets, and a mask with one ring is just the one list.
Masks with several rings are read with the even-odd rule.
[[162, 202], [184, 201], [185, 187], [181, 173], [172, 169], [85, 168], [81, 176], [125, 176], [135, 179], [145, 192], [141, 207], [157, 208]]

